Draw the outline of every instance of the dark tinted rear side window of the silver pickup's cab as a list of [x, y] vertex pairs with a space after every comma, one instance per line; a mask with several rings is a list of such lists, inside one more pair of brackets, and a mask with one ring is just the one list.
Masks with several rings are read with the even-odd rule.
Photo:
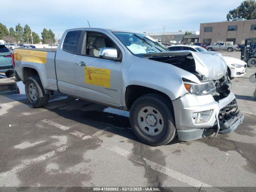
[[62, 49], [76, 54], [81, 32], [81, 30], [68, 32], [64, 39]]

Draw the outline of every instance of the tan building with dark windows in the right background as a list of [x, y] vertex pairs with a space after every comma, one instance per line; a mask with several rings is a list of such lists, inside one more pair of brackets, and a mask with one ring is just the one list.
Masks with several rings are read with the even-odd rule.
[[237, 20], [200, 24], [200, 42], [234, 42], [244, 44], [256, 38], [256, 20]]

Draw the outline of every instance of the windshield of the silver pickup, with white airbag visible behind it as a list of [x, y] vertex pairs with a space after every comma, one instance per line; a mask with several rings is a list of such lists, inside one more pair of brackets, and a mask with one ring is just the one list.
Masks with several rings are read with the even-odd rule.
[[149, 36], [129, 32], [114, 32], [114, 35], [133, 54], [143, 55], [148, 53], [169, 51]]

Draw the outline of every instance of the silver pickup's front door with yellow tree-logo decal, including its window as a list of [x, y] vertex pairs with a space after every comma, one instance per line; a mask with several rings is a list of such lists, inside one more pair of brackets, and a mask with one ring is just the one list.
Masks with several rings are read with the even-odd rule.
[[101, 32], [86, 32], [82, 53], [74, 59], [76, 94], [82, 98], [121, 103], [122, 62], [99, 57], [101, 48], [120, 48]]

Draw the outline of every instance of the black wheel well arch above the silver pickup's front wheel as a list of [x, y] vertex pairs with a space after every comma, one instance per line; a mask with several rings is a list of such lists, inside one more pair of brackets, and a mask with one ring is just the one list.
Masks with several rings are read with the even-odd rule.
[[126, 107], [128, 109], [131, 108], [133, 102], [138, 99], [142, 95], [150, 94], [150, 93], [159, 93], [164, 95], [168, 100], [170, 100], [170, 103], [172, 104], [172, 100], [170, 97], [168, 97], [166, 94], [163, 92], [160, 92], [158, 90], [144, 87], [144, 86], [139, 86], [139, 85], [129, 85], [126, 87], [125, 91], [125, 102], [126, 102]]

